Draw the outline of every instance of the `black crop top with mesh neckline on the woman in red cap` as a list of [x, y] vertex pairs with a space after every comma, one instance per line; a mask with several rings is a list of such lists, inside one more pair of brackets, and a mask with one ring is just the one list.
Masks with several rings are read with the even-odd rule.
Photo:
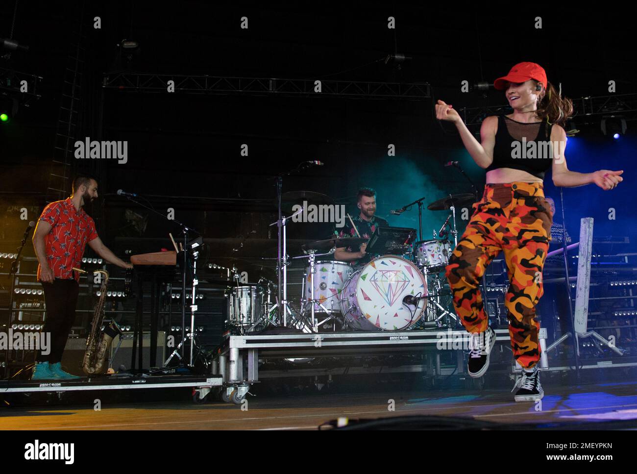
[[497, 168], [520, 169], [544, 179], [553, 163], [550, 142], [552, 127], [550, 125], [547, 128], [546, 120], [525, 124], [505, 115], [497, 117], [493, 162], [487, 171]]

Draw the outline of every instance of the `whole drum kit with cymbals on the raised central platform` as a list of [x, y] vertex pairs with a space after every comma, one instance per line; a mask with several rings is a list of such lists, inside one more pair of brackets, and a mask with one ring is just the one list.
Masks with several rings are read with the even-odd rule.
[[[327, 196], [308, 191], [295, 192], [294, 198], [302, 198], [304, 203], [329, 203]], [[282, 201], [285, 202], [285, 194]], [[376, 229], [374, 236], [392, 232], [400, 236], [398, 240], [408, 236], [402, 242], [402, 250], [397, 250], [396, 245], [376, 245], [373, 249], [374, 236], [369, 240], [331, 238], [306, 243], [301, 247], [302, 255], [290, 257], [286, 254], [285, 225], [291, 216], [282, 217], [275, 223], [282, 224], [279, 226], [282, 252], [277, 258], [280, 261], [277, 274], [282, 275], [280, 285], [266, 278], [256, 284], [240, 282], [240, 273], [233, 268], [230, 273], [235, 281], [225, 293], [227, 329], [235, 334], [250, 334], [269, 329], [269, 326], [303, 333], [457, 327], [459, 321], [444, 271], [457, 245], [455, 209], [470, 206], [474, 201], [473, 194], [456, 194], [427, 206], [429, 210], [450, 212], [440, 231], [434, 230], [431, 240], [416, 241], [416, 229]], [[422, 238], [422, 230], [420, 235]], [[363, 243], [368, 243], [368, 254], [372, 257], [365, 264], [352, 266], [331, 257], [336, 248], [358, 248]], [[383, 248], [399, 253], [387, 254]], [[287, 301], [287, 266], [293, 261], [306, 262], [301, 294], [294, 301], [296, 304], [290, 305]]]

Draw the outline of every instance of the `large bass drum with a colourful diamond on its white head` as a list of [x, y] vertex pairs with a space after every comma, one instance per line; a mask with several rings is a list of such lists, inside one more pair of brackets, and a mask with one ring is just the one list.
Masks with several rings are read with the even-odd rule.
[[355, 271], [341, 292], [341, 312], [347, 323], [362, 331], [400, 331], [422, 317], [427, 299], [415, 305], [405, 296], [427, 296], [427, 281], [412, 262], [383, 255]]

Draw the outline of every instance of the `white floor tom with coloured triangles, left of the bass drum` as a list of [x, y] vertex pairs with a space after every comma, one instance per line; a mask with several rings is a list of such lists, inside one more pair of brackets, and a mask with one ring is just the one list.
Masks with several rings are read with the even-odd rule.
[[352, 275], [354, 269], [347, 262], [321, 260], [314, 264], [315, 275], [311, 278], [310, 267], [305, 269], [306, 285], [305, 299], [309, 302], [312, 298], [312, 285], [314, 286], [314, 312], [326, 313], [324, 308], [331, 312], [340, 311], [340, 294], [343, 285]]

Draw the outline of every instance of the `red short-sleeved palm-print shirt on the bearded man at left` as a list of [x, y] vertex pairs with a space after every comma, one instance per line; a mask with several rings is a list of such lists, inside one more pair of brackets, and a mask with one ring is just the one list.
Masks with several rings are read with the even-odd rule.
[[[38, 220], [51, 224], [50, 233], [45, 236], [47, 262], [55, 278], [75, 278], [80, 274], [73, 267], [81, 268], [82, 255], [86, 243], [97, 238], [95, 222], [80, 208], [75, 210], [71, 198], [55, 201], [44, 208]], [[38, 280], [41, 268], [38, 265]]]

